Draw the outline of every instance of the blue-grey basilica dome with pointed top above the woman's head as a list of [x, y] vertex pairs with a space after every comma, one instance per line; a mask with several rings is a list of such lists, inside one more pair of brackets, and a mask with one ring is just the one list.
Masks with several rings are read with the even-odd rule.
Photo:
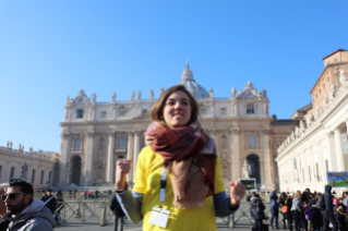
[[193, 80], [193, 73], [190, 70], [189, 62], [187, 62], [187, 68], [182, 72], [181, 81], [179, 84], [183, 85], [191, 94], [194, 95], [195, 98], [209, 97], [206, 89], [202, 87], [200, 84], [195, 83], [195, 81]]

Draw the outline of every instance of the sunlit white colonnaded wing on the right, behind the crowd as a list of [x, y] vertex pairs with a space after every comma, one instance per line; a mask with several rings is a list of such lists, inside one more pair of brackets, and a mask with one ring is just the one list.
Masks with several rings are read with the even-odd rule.
[[[316, 85], [321, 86], [323, 80], [326, 78], [321, 75]], [[312, 94], [316, 96], [315, 90], [314, 87]], [[308, 117], [309, 111], [307, 119], [278, 148], [276, 161], [281, 191], [310, 187], [323, 192], [326, 171], [347, 170], [348, 151], [344, 151], [341, 141], [347, 141], [348, 133], [348, 83], [339, 85], [325, 105], [313, 101], [313, 110], [320, 108], [317, 114]]]

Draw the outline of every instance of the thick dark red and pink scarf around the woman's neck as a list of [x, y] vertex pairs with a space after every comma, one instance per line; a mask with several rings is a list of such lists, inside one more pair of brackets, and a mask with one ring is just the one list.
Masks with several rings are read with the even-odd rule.
[[179, 208], [204, 206], [206, 196], [214, 194], [216, 149], [199, 121], [189, 126], [163, 130], [152, 123], [146, 135], [157, 135], [152, 149], [166, 160], [172, 160], [171, 186], [173, 205]]

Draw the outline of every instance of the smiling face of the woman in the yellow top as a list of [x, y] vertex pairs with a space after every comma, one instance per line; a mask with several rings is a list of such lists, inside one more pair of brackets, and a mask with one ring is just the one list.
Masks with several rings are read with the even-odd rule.
[[171, 94], [166, 101], [163, 115], [170, 129], [187, 125], [191, 118], [191, 105], [188, 95], [181, 90]]

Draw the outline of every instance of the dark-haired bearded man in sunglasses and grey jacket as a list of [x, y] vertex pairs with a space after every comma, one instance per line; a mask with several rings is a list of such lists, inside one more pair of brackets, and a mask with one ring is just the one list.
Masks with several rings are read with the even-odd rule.
[[12, 216], [8, 231], [52, 231], [56, 221], [44, 202], [33, 199], [33, 185], [24, 180], [13, 181], [1, 195], [7, 214]]

